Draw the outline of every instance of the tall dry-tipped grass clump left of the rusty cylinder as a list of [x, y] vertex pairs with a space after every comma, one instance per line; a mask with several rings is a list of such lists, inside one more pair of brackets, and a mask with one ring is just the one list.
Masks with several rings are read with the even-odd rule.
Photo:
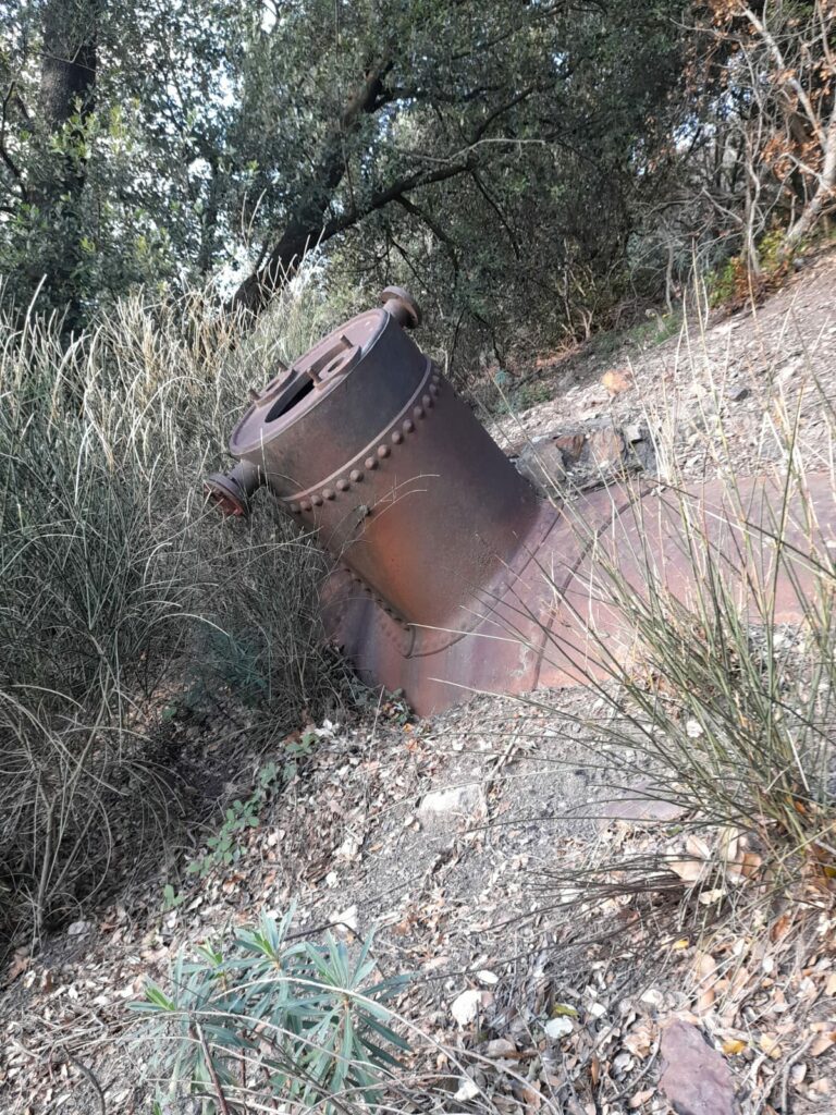
[[201, 293], [140, 292], [67, 347], [0, 308], [0, 922], [39, 932], [158, 838], [148, 743], [185, 690], [281, 728], [339, 689], [317, 550], [201, 491], [246, 389], [325, 313], [302, 284], [246, 332]]

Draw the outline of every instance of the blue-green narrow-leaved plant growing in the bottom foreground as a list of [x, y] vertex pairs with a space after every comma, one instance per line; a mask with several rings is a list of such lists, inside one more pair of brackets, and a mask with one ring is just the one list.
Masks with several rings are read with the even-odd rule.
[[293, 912], [262, 915], [226, 952], [178, 954], [168, 988], [149, 982], [132, 1005], [154, 1020], [169, 1095], [198, 1097], [204, 1115], [256, 1099], [325, 1113], [373, 1105], [409, 1048], [385, 1005], [406, 977], [375, 979], [371, 935], [354, 954], [330, 934], [315, 944], [290, 933]]

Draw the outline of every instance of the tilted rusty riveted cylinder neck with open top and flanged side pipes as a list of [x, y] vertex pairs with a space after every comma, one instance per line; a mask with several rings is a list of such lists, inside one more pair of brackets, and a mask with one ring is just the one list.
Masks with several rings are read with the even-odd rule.
[[207, 485], [240, 514], [266, 484], [404, 631], [460, 628], [541, 507], [406, 332], [409, 295], [385, 299], [264, 388], [232, 435], [237, 467]]

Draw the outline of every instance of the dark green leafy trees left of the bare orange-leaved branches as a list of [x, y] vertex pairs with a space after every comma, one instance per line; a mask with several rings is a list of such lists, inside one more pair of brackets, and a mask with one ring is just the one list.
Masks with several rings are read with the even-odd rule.
[[75, 327], [184, 274], [257, 309], [322, 241], [352, 284], [434, 294], [448, 340], [464, 321], [498, 341], [531, 310], [582, 327], [623, 291], [655, 188], [680, 8], [12, 4], [0, 268]]

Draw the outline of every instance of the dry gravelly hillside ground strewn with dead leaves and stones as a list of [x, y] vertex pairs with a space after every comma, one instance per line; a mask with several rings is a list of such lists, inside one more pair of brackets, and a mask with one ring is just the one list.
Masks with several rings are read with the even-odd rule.
[[[827, 467], [829, 427], [815, 381], [824, 396], [836, 395], [835, 290], [830, 254], [755, 311], [702, 330], [689, 323], [645, 351], [628, 346], [605, 359], [582, 352], [546, 365], [541, 378], [553, 398], [496, 423], [494, 433], [513, 447], [590, 420], [651, 421], [665, 452], [698, 477], [713, 467], [719, 417], [742, 473], [775, 459], [770, 423], [782, 395], [798, 408], [808, 467]], [[610, 394], [602, 377], [613, 370], [629, 384]], [[718, 1002], [706, 1011], [696, 942], [675, 923], [662, 919], [634, 927], [630, 939], [596, 943], [589, 925], [561, 914], [566, 865], [594, 849], [613, 854], [642, 831], [641, 822], [610, 817], [620, 789], [603, 745], [607, 715], [605, 701], [574, 689], [541, 695], [536, 706], [479, 697], [420, 723], [389, 701], [362, 719], [320, 726], [312, 756], [249, 830], [233, 867], [201, 880], [184, 874], [186, 856], [167, 856], [155, 876], [80, 915], [35, 956], [19, 951], [0, 990], [0, 1109], [147, 1115], [154, 1070], [127, 1004], [147, 977], [165, 980], [177, 949], [216, 941], [295, 901], [299, 928], [339, 923], [349, 939], [375, 928], [380, 971], [422, 977], [400, 1009], [439, 1043], [487, 1058], [476, 1078], [495, 1111], [670, 1112], [655, 1086], [657, 1057], [660, 1026], [677, 1016], [693, 1019], [718, 1047], [745, 1028], [751, 1050], [729, 1056], [743, 1115], [832, 1113], [833, 1050], [786, 1084], [776, 1075], [785, 1063], [758, 1046], [761, 1035], [780, 1031], [787, 1002], [804, 1007], [794, 1025], [833, 1015], [827, 995], [832, 1007], [836, 980], [827, 983], [824, 952], [814, 972], [780, 953], [765, 987], [760, 944], [749, 942], [740, 967], [750, 985], [737, 988], [733, 1009]], [[210, 728], [200, 740], [207, 768], [220, 738]], [[261, 762], [281, 763], [282, 747]], [[256, 766], [240, 772], [240, 795]], [[448, 793], [428, 802], [439, 791]], [[176, 909], [164, 909], [166, 884], [182, 895]], [[602, 911], [601, 924], [618, 915], [616, 905]], [[467, 990], [479, 992], [478, 1018], [460, 1026], [450, 1008]], [[572, 1031], [560, 1041], [544, 1030], [555, 1004], [572, 1011], [563, 1016]], [[502, 1057], [489, 1067], [497, 1040], [516, 1050], [525, 1086]], [[445, 1064], [441, 1057], [435, 1067]], [[775, 1096], [767, 1097], [787, 1087], [791, 1105], [770, 1106]]]

